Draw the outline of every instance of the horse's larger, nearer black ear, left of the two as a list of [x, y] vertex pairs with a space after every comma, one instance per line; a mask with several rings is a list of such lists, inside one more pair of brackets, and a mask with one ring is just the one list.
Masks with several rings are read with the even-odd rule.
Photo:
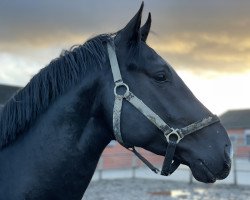
[[139, 11], [135, 16], [129, 21], [129, 23], [118, 32], [118, 41], [128, 42], [138, 42], [141, 39], [140, 26], [141, 26], [141, 16], [144, 3], [142, 2]]

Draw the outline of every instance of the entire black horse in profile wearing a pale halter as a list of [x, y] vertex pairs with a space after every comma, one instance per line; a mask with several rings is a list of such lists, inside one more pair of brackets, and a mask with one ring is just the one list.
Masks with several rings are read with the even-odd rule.
[[[1, 200], [80, 200], [112, 127], [114, 81], [107, 44], [114, 41], [124, 82], [171, 127], [210, 116], [174, 69], [146, 44], [151, 18], [140, 28], [142, 7], [115, 34], [65, 51], [4, 106], [0, 120]], [[166, 44], [167, 45], [167, 44]], [[123, 141], [164, 155], [161, 131], [128, 102]], [[175, 159], [210, 183], [227, 177], [231, 144], [218, 122], [185, 137]]]

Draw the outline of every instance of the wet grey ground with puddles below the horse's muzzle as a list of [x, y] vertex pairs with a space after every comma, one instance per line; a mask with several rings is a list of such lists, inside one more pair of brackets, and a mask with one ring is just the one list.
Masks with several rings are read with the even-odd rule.
[[82, 200], [250, 200], [249, 186], [152, 179], [92, 181]]

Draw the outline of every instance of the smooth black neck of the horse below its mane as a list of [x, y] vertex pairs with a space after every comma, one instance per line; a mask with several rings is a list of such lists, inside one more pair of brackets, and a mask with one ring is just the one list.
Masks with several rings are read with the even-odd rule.
[[[46, 190], [51, 194], [56, 191], [60, 199], [81, 198], [101, 153], [111, 140], [102, 114], [95, 110], [98, 108], [95, 103], [97, 79], [89, 76], [72, 87], [37, 118], [20, 140], [4, 149], [0, 162], [10, 158], [17, 173], [13, 175], [12, 185], [30, 188], [31, 195], [33, 191]], [[23, 159], [17, 166], [16, 160], [20, 158]], [[5, 164], [0, 171], [11, 168]], [[11, 179], [12, 174], [12, 171], [6, 172], [6, 180]], [[32, 174], [36, 174], [32, 183], [18, 180], [18, 177]]]

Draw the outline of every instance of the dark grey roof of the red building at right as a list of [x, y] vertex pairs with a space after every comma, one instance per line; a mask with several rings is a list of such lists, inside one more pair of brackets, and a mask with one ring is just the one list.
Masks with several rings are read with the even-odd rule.
[[250, 129], [250, 109], [229, 110], [220, 116], [223, 126], [229, 129]]

